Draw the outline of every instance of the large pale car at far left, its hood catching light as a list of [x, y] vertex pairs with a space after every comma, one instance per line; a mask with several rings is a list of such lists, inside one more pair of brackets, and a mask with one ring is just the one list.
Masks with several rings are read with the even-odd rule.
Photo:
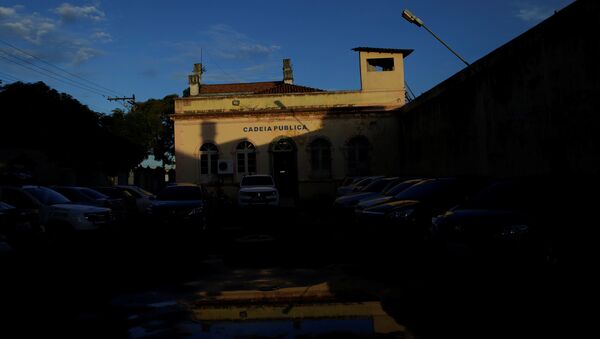
[[109, 208], [78, 205], [43, 186], [0, 187], [0, 199], [17, 208], [37, 213], [46, 232], [96, 231], [109, 225]]

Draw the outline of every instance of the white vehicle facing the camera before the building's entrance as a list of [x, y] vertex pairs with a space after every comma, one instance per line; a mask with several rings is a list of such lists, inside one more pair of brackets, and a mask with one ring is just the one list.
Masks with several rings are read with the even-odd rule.
[[279, 206], [279, 191], [270, 175], [247, 175], [240, 182], [239, 206]]

